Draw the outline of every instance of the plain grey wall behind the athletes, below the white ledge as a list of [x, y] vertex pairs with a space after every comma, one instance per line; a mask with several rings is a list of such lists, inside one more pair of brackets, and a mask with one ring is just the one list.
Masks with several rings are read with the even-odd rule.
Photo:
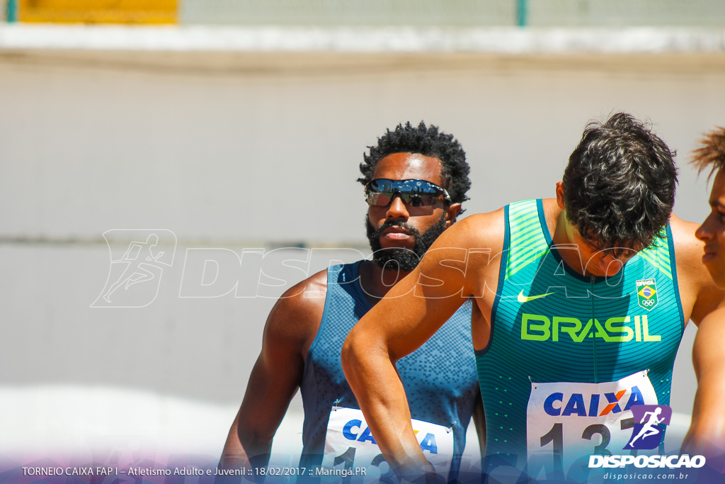
[[[406, 120], [461, 141], [471, 214], [552, 197], [587, 122], [625, 110], [652, 120], [679, 152], [676, 213], [692, 221], [708, 213], [706, 177], [686, 160], [703, 131], [725, 123], [722, 62], [383, 54], [359, 67], [303, 54], [265, 62], [204, 70], [0, 56], [0, 385], [241, 401], [274, 300], [179, 298], [186, 249], [364, 247], [357, 164]], [[178, 237], [144, 308], [90, 307], [110, 277], [102, 234], [112, 229]], [[687, 344], [675, 380], [684, 390], [673, 392], [674, 409], [686, 413], [695, 387]]]

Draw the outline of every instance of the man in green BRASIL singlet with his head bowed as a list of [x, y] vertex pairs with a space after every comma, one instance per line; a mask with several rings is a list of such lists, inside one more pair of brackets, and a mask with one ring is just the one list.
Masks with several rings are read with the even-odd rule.
[[465, 218], [436, 241], [357, 324], [342, 353], [398, 475], [428, 467], [394, 362], [467, 298], [476, 301], [484, 472], [510, 466], [562, 477], [556, 472], [589, 455], [622, 453], [629, 408], [669, 403], [686, 322], [724, 305], [700, 261], [695, 224], [671, 213], [675, 186], [666, 144], [618, 113], [587, 126], [555, 199]]

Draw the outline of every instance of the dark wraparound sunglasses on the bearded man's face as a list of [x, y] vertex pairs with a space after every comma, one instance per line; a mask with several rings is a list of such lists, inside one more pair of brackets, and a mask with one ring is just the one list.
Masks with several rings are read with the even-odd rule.
[[387, 207], [395, 197], [409, 209], [432, 208], [438, 200], [451, 200], [446, 189], [425, 180], [376, 179], [365, 185], [365, 199], [371, 207]]

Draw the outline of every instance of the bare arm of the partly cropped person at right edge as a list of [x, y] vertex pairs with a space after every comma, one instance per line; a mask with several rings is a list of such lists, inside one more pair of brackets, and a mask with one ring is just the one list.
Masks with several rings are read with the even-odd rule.
[[717, 456], [725, 451], [725, 308], [700, 323], [692, 364], [697, 393], [692, 424], [682, 448], [690, 455]]

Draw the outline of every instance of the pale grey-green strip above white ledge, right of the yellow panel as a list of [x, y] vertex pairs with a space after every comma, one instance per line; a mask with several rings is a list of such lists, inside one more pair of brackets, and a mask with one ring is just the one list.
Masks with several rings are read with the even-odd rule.
[[[522, 7], [523, 4], [523, 7]], [[181, 22], [207, 25], [725, 25], [718, 0], [185, 0]]]

